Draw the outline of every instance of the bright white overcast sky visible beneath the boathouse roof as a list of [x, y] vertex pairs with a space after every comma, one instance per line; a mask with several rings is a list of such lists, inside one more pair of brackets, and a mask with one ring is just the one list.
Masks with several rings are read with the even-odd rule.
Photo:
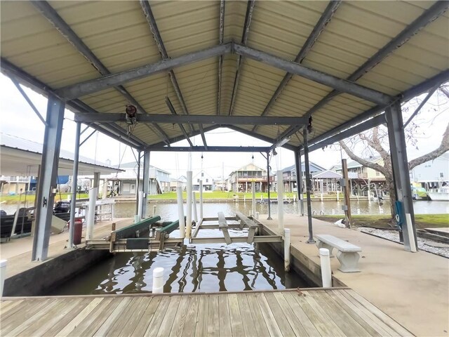
[[[27, 140], [33, 140], [37, 143], [43, 143], [44, 126], [41, 120], [36, 116], [31, 107], [22, 97], [11, 80], [0, 74], [0, 131], [12, 136], [18, 136]], [[47, 100], [43, 95], [22, 86], [29, 98], [32, 100], [37, 110], [45, 119]], [[404, 120], [413, 112], [414, 107], [419, 104], [419, 100], [410, 102], [411, 106], [408, 112], [404, 113]], [[61, 148], [74, 152], [75, 126], [73, 121], [74, 114], [65, 110], [65, 120], [62, 131]], [[441, 143], [441, 138], [445, 126], [449, 121], [449, 104], [443, 95], [436, 95], [431, 98], [422, 112], [414, 119], [420, 128], [415, 130], [414, 137], [417, 139], [416, 146], [408, 147], [408, 158], [413, 159], [420, 155], [434, 150]], [[83, 130], [85, 126], [81, 126]], [[89, 129], [81, 136], [81, 141], [91, 133]], [[224, 142], [225, 140], [225, 142]], [[262, 140], [257, 140], [228, 128], [219, 128], [206, 133], [208, 145], [228, 145], [228, 146], [267, 146], [271, 145]], [[203, 145], [201, 136], [192, 138], [194, 145]], [[188, 146], [187, 140], [175, 143], [173, 145]], [[270, 166], [272, 171], [295, 164], [293, 152], [282, 149], [277, 151], [278, 155], [272, 157]], [[108, 160], [112, 164], [126, 163], [135, 161], [135, 157], [130, 147], [119, 143], [102, 133], [95, 132], [86, 143], [80, 148], [80, 155], [93, 159], [98, 164], [104, 164]], [[188, 164], [187, 153], [175, 152], [151, 152], [150, 164], [159, 169], [171, 173], [172, 178], [185, 175]], [[201, 159], [203, 156], [203, 159]], [[340, 154], [338, 146], [326, 150], [316, 150], [311, 152], [309, 160], [329, 169], [334, 164], [339, 164], [341, 156], [347, 158], [347, 155]], [[253, 158], [254, 157], [254, 158]], [[1, 154], [0, 154], [1, 160]], [[304, 160], [304, 159], [302, 159]], [[229, 173], [239, 169], [241, 166], [253, 163], [263, 169], [267, 166], [267, 160], [260, 153], [220, 153], [220, 152], [192, 152], [192, 170], [199, 171], [203, 169], [214, 178], [225, 178]], [[0, 173], [1, 174], [1, 173]]]

